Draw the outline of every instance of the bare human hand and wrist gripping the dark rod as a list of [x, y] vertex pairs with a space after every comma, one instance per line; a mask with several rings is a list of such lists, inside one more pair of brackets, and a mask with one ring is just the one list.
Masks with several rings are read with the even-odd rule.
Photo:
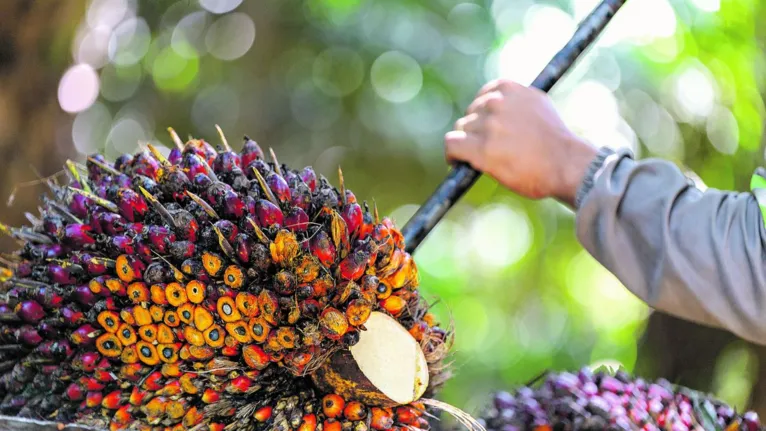
[[448, 162], [466, 162], [514, 193], [572, 206], [598, 151], [564, 125], [547, 94], [508, 80], [479, 91], [445, 150]]

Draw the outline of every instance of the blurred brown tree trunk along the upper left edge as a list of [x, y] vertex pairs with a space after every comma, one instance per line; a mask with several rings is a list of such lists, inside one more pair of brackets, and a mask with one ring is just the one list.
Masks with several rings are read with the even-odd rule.
[[[37, 212], [43, 190], [24, 188], [7, 207], [13, 187], [37, 179], [36, 171], [42, 176], [55, 173], [74, 152], [66, 136], [71, 119], [58, 105], [57, 89], [71, 62], [72, 27], [80, 21], [83, 3], [0, 1], [0, 220], [4, 223], [25, 223], [24, 212]], [[0, 251], [14, 248], [13, 241], [0, 238]]]

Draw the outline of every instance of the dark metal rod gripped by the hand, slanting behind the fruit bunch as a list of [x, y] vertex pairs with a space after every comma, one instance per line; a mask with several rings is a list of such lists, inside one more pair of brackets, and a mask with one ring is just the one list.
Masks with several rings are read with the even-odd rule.
[[[569, 42], [561, 49], [532, 82], [548, 92], [572, 67], [626, 0], [603, 0], [578, 26]], [[458, 163], [402, 229], [405, 248], [412, 253], [433, 230], [450, 208], [476, 183], [481, 173], [466, 163]]]

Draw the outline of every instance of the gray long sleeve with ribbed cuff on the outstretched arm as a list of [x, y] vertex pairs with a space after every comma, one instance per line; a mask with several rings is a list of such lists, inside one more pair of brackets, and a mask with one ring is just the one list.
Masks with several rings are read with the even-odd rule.
[[628, 290], [766, 344], [766, 228], [752, 193], [703, 192], [674, 164], [624, 150], [581, 188], [577, 238]]

